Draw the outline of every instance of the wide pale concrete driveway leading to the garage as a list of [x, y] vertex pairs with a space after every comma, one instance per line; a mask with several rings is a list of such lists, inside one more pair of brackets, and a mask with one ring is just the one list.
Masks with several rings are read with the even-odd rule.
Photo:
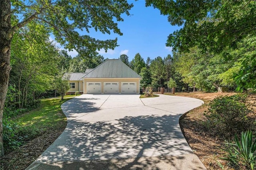
[[81, 95], [62, 105], [68, 125], [28, 169], [205, 169], [179, 118], [203, 104], [188, 97]]

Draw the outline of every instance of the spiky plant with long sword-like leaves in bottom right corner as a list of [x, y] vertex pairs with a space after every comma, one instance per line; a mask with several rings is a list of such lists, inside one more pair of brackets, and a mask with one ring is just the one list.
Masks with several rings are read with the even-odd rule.
[[234, 143], [227, 142], [223, 148], [227, 152], [226, 157], [221, 159], [229, 161], [231, 164], [239, 166], [240, 169], [246, 168], [255, 170], [256, 168], [256, 138], [253, 140], [251, 130], [242, 132], [240, 140], [235, 134]]

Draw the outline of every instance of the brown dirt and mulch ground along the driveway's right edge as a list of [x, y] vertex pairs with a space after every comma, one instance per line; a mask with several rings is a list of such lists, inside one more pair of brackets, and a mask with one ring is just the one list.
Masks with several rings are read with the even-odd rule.
[[[194, 97], [203, 100], [205, 103], [209, 103], [211, 100], [220, 95], [234, 95], [236, 93], [176, 93], [176, 96]], [[249, 102], [255, 103], [256, 95], [250, 95]], [[256, 107], [251, 105], [254, 111]], [[192, 111], [188, 112], [184, 117], [180, 119], [180, 127], [182, 132], [198, 158], [202, 161], [204, 166], [208, 170], [221, 170], [217, 161], [221, 162], [226, 169], [232, 169], [227, 166], [227, 162], [220, 160], [224, 152], [218, 148], [224, 142], [224, 139], [217, 138], [216, 136], [209, 136], [204, 133], [204, 129], [201, 126], [201, 121], [204, 121], [204, 111], [208, 109], [207, 105], [202, 105]], [[255, 115], [250, 117], [255, 119]]]

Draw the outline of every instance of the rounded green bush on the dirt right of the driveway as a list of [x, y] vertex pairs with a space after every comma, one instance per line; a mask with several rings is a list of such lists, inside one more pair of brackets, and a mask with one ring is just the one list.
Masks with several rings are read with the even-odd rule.
[[246, 95], [216, 97], [209, 103], [206, 127], [218, 136], [232, 136], [247, 130], [250, 122], [246, 116], [251, 110], [246, 106]]

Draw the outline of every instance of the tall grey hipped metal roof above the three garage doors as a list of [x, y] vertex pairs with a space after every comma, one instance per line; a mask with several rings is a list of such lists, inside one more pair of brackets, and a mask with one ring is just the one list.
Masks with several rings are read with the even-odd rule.
[[120, 59], [108, 59], [83, 78], [141, 78]]

